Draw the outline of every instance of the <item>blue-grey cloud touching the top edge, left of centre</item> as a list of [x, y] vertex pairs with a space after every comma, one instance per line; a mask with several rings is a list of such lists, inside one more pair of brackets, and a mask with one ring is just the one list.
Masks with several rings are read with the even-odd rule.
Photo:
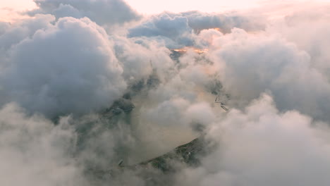
[[112, 25], [138, 20], [140, 16], [122, 0], [35, 0], [39, 8], [28, 12], [52, 14], [56, 18], [88, 17], [99, 25]]

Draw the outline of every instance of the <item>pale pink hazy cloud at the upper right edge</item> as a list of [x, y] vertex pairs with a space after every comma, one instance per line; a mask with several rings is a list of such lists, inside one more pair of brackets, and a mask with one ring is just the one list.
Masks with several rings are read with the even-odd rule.
[[[309, 6], [309, 7], [306, 7]], [[281, 33], [289, 42], [297, 44], [298, 48], [306, 51], [311, 57], [311, 66], [330, 80], [329, 37], [330, 14], [326, 11], [329, 4], [307, 4], [288, 14], [276, 24], [267, 28], [268, 32]], [[304, 35], [297, 34], [304, 30]]]

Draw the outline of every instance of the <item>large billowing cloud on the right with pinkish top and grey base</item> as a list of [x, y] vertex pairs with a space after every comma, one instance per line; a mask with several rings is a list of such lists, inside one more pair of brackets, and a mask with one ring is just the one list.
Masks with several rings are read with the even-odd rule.
[[296, 109], [330, 120], [329, 82], [311, 67], [307, 52], [281, 37], [240, 29], [215, 43], [218, 49], [212, 55], [219, 63], [219, 78], [233, 102], [242, 106], [271, 91], [281, 111]]

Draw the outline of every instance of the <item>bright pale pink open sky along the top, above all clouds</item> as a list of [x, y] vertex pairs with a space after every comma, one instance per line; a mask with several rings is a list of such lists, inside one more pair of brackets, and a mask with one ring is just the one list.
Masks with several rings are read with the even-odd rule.
[[[247, 11], [251, 8], [261, 8], [265, 4], [288, 4], [288, 3], [330, 3], [330, 0], [284, 0], [284, 1], [268, 1], [268, 0], [233, 0], [216, 1], [204, 0], [203, 4], [200, 1], [190, 0], [169, 0], [169, 1], [154, 1], [154, 0], [124, 0], [135, 11], [145, 16], [156, 15], [165, 11], [173, 13], [181, 13], [187, 11], [201, 11], [204, 13], [221, 13], [230, 11]], [[216, 4], [214, 4], [216, 3]], [[148, 6], [145, 6], [147, 4]], [[149, 8], [152, 7], [152, 8]], [[25, 18], [21, 13], [27, 10], [37, 8], [33, 0], [4, 0], [0, 4], [0, 20], [14, 21], [20, 18]]]

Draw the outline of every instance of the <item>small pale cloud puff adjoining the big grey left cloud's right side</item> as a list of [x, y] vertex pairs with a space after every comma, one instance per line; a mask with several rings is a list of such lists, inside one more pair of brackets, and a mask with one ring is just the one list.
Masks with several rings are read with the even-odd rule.
[[114, 54], [123, 66], [123, 77], [127, 82], [147, 79], [153, 69], [157, 69], [161, 77], [174, 66], [170, 51], [164, 44], [118, 35], [111, 35], [110, 40], [114, 43]]

